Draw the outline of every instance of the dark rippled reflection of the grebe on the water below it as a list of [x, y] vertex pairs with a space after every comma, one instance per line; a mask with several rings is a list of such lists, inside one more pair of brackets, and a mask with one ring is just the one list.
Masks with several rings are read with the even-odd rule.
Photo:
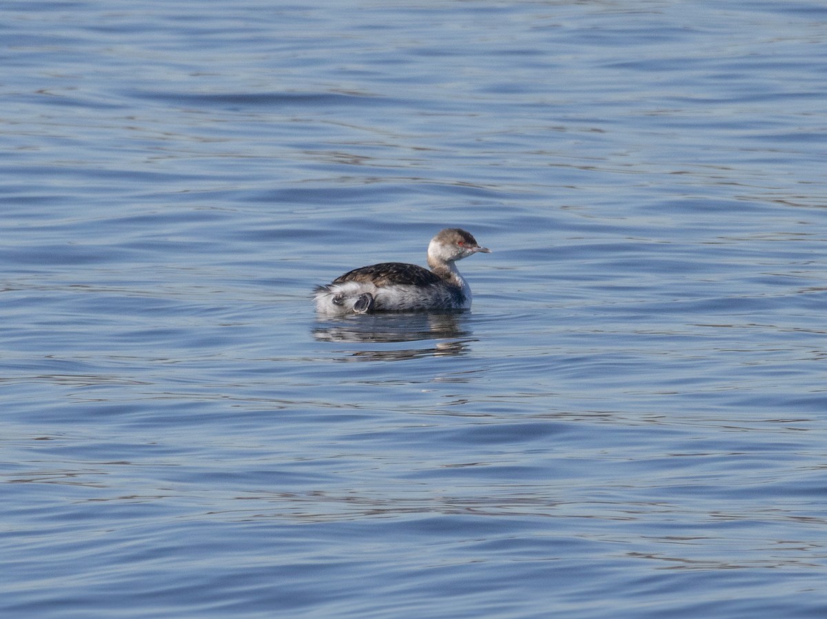
[[[351, 351], [342, 361], [400, 361], [416, 357], [441, 357], [465, 353], [471, 331], [462, 324], [461, 312], [394, 312], [360, 314], [320, 322], [313, 336], [332, 343], [425, 342], [423, 348]], [[433, 342], [433, 340], [450, 340]]]

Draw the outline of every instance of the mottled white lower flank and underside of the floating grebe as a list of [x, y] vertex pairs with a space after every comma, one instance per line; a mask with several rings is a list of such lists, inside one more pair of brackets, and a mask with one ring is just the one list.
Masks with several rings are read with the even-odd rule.
[[461, 284], [464, 298], [458, 303], [457, 295], [447, 284], [377, 287], [369, 282], [346, 281], [318, 290], [315, 294], [316, 310], [320, 314], [354, 314], [353, 305], [366, 292], [374, 298], [373, 311], [467, 310], [471, 307], [471, 289], [466, 281], [461, 280]]

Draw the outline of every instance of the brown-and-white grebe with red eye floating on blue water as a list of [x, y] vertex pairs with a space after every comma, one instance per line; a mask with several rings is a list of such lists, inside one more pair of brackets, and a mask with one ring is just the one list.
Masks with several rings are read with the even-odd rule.
[[467, 310], [471, 288], [457, 271], [457, 260], [490, 253], [465, 230], [447, 228], [428, 244], [428, 266], [382, 262], [348, 271], [315, 290], [322, 314], [368, 314], [394, 310]]

